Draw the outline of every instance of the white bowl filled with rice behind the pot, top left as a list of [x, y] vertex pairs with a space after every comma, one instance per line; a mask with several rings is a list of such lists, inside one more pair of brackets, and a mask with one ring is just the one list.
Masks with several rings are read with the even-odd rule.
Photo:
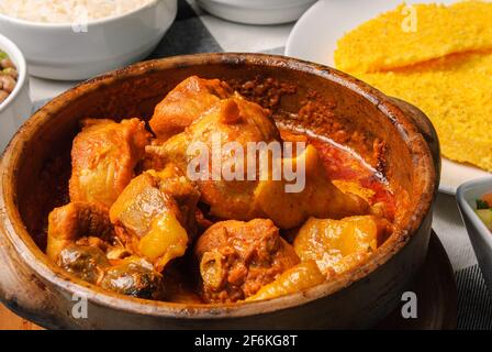
[[148, 56], [176, 12], [177, 0], [0, 0], [0, 33], [31, 75], [80, 80]]

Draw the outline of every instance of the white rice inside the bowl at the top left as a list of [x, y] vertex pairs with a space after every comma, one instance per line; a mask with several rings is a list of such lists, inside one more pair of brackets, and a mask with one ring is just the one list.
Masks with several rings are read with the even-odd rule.
[[0, 0], [0, 13], [31, 22], [83, 23], [121, 15], [156, 0]]

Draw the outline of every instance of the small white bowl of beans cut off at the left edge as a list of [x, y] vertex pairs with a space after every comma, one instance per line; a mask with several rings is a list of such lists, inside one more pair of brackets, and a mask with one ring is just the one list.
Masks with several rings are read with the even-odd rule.
[[25, 58], [14, 43], [0, 34], [0, 154], [31, 110]]

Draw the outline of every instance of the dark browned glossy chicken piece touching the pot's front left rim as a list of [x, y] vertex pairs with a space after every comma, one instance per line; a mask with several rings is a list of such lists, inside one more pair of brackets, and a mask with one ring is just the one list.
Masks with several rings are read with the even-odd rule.
[[164, 297], [164, 278], [150, 263], [137, 257], [125, 258], [121, 264], [105, 270], [99, 285], [121, 295], [144, 299]]

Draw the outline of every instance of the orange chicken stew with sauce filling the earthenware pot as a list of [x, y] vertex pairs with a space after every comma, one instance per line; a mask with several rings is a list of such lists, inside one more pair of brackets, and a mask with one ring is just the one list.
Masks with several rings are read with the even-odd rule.
[[[192, 76], [148, 124], [83, 120], [68, 197], [48, 217], [47, 256], [119, 294], [203, 304], [275, 298], [360, 265], [393, 231], [394, 190], [349, 147], [276, 123], [275, 97], [257, 98]], [[217, 154], [214, 136], [234, 147]], [[239, 157], [259, 144], [279, 145], [278, 163]], [[197, 151], [212, 161], [195, 163]], [[241, 177], [214, 177], [216, 161]], [[292, 177], [277, 177], [287, 166], [302, 170], [295, 191]]]

